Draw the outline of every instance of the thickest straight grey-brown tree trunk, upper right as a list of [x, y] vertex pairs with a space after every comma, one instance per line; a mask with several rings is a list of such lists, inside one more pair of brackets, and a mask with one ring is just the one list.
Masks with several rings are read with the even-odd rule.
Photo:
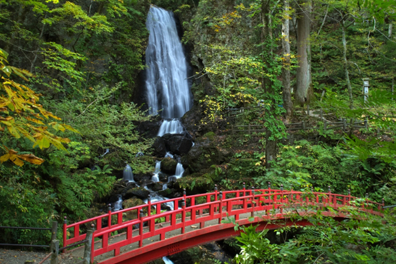
[[296, 101], [303, 105], [308, 103], [312, 95], [311, 85], [311, 45], [310, 33], [311, 0], [298, 2], [297, 14], [297, 89]]

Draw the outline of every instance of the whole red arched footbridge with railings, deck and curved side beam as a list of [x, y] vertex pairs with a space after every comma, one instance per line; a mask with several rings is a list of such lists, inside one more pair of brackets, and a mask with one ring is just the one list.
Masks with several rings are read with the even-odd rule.
[[[173, 210], [161, 210], [166, 205]], [[283, 189], [242, 189], [189, 195], [108, 211], [77, 223], [63, 225], [63, 246], [82, 241], [87, 226], [95, 224], [91, 262], [145, 263], [210, 241], [238, 235], [235, 223], [257, 224], [258, 229], [288, 225], [310, 225], [293, 215], [321, 213], [337, 219], [348, 218], [346, 206], [382, 215], [382, 203], [365, 198], [328, 192]], [[227, 220], [228, 221], [223, 221]]]

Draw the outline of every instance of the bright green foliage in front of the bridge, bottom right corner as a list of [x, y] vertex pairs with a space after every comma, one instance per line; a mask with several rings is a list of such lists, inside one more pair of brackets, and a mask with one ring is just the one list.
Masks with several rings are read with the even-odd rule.
[[[237, 263], [392, 263], [396, 254], [392, 243], [396, 238], [393, 216], [385, 214], [385, 221], [378, 216], [344, 208], [350, 219], [337, 221], [324, 217], [321, 211], [295, 220], [307, 219], [312, 226], [300, 227], [299, 232], [280, 244], [272, 244], [264, 236], [266, 229], [256, 232], [256, 227], [242, 227], [237, 237], [241, 252]], [[298, 228], [298, 226], [295, 226]], [[240, 227], [237, 227], [240, 228]], [[280, 235], [290, 227], [277, 230]], [[384, 253], [386, 252], [386, 253]]]

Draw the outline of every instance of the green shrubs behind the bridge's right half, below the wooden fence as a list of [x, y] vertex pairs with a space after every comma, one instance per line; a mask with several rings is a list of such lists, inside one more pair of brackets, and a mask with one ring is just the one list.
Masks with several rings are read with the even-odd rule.
[[[386, 202], [396, 202], [393, 195], [388, 195], [394, 188], [392, 179], [396, 163], [374, 157], [360, 161], [340, 146], [313, 145], [306, 140], [295, 144], [283, 146], [274, 166], [262, 176], [253, 176], [256, 184], [266, 188], [270, 181], [278, 188], [283, 184], [285, 189], [297, 190], [306, 186], [327, 190], [330, 186], [336, 193], [346, 193], [350, 189], [354, 196], [364, 197], [369, 193], [372, 199], [385, 197]], [[256, 161], [261, 167], [261, 160], [256, 158]]]

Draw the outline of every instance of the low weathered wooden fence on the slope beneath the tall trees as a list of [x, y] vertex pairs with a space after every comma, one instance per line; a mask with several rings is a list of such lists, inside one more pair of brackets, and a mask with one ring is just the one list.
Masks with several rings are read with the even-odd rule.
[[[323, 126], [318, 127], [309, 127], [305, 124], [305, 121], [301, 121], [300, 123], [290, 123], [285, 124], [286, 130], [312, 130], [312, 129], [323, 129], [323, 130], [330, 130], [330, 129], [342, 129], [344, 132], [349, 130], [351, 127], [355, 128], [368, 128], [368, 121], [354, 121], [354, 119], [350, 119], [349, 122], [346, 121], [345, 118], [341, 119], [340, 122], [327, 122], [326, 120], [323, 123]], [[232, 126], [231, 132], [232, 134], [237, 133], [262, 133], [267, 131], [267, 129], [263, 125], [243, 125], [243, 126]]]

